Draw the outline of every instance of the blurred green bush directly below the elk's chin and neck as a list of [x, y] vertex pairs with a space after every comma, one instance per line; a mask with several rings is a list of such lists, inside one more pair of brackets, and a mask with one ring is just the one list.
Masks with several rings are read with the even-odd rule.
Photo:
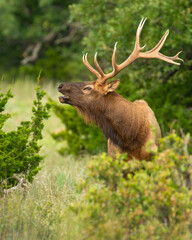
[[60, 154], [78, 154], [81, 152], [98, 153], [106, 150], [106, 140], [101, 131], [92, 125], [86, 125], [84, 120], [78, 115], [76, 109], [70, 106], [57, 104], [50, 100], [53, 111], [65, 125], [65, 130], [52, 133], [57, 141], [65, 141], [66, 146], [59, 150]]

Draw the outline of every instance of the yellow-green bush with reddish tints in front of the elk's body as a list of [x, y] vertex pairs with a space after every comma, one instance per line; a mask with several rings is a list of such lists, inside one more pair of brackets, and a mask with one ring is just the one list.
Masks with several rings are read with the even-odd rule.
[[163, 138], [153, 160], [124, 161], [102, 154], [79, 184], [84, 198], [71, 204], [82, 239], [192, 238], [192, 156], [189, 136]]

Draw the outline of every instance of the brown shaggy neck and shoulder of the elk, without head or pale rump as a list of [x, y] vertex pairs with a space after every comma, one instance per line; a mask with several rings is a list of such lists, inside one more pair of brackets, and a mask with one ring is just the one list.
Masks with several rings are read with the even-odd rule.
[[78, 110], [87, 122], [96, 123], [107, 139], [123, 151], [132, 152], [144, 145], [149, 131], [146, 114], [136, 104], [112, 92], [100, 100], [99, 105], [95, 99], [86, 108]]

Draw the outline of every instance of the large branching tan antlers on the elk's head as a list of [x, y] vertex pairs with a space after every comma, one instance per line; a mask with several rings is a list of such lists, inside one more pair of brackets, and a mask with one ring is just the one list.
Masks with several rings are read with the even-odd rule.
[[95, 53], [95, 57], [94, 57], [94, 64], [95, 67], [97, 68], [97, 70], [95, 70], [95, 68], [93, 68], [88, 60], [87, 60], [87, 54], [83, 55], [83, 63], [84, 65], [88, 68], [88, 70], [90, 72], [92, 72], [93, 74], [96, 75], [97, 77], [97, 82], [99, 84], [104, 84], [108, 79], [113, 78], [115, 75], [117, 75], [122, 69], [124, 69], [125, 67], [127, 67], [129, 64], [131, 64], [132, 62], [134, 62], [136, 59], [138, 58], [158, 58], [161, 59], [165, 62], [169, 62], [172, 64], [176, 64], [176, 65], [180, 65], [180, 63], [174, 62], [174, 60], [180, 60], [183, 61], [181, 58], [179, 58], [179, 54], [182, 52], [178, 52], [175, 56], [173, 57], [168, 57], [163, 55], [162, 53], [160, 53], [160, 49], [162, 48], [168, 34], [169, 34], [169, 30], [167, 30], [165, 32], [165, 34], [163, 35], [163, 37], [161, 38], [161, 40], [158, 42], [158, 44], [151, 50], [147, 51], [147, 52], [141, 52], [141, 50], [146, 46], [140, 47], [139, 45], [139, 38], [141, 35], [141, 31], [143, 29], [144, 23], [147, 20], [147, 18], [142, 18], [138, 28], [137, 28], [137, 33], [136, 33], [136, 41], [135, 41], [135, 47], [133, 52], [131, 53], [131, 55], [120, 65], [116, 64], [115, 61], [115, 54], [116, 54], [116, 46], [117, 46], [117, 42], [115, 43], [114, 46], [114, 50], [113, 50], [113, 55], [112, 55], [112, 67], [113, 67], [113, 71], [111, 73], [105, 74], [102, 69], [100, 68], [98, 62], [97, 62], [97, 53]]

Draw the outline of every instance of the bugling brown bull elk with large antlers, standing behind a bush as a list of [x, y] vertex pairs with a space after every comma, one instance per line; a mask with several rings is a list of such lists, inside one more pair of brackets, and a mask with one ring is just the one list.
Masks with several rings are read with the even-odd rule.
[[[105, 74], [97, 62], [97, 53], [94, 57], [95, 68], [88, 60], [87, 54], [83, 55], [83, 63], [97, 79], [95, 81], [68, 82], [62, 83], [58, 91], [64, 96], [60, 96], [61, 103], [69, 104], [77, 109], [84, 116], [86, 122], [94, 122], [99, 126], [108, 139], [108, 153], [114, 156], [116, 151], [128, 154], [130, 158], [150, 159], [150, 154], [145, 146], [152, 140], [152, 147], [156, 147], [161, 137], [161, 130], [156, 117], [144, 100], [130, 102], [115, 92], [120, 80], [107, 82], [108, 79], [116, 76], [121, 70], [127, 67], [138, 58], [158, 58], [163, 61], [180, 65], [175, 60], [181, 60], [177, 53], [173, 57], [161, 54], [162, 48], [169, 31], [167, 30], [158, 44], [147, 52], [141, 52], [145, 47], [140, 47], [139, 38], [146, 18], [142, 19], [136, 33], [135, 47], [131, 55], [121, 64], [115, 61], [115, 43], [112, 54], [111, 73]], [[155, 129], [155, 131], [152, 130]]]

